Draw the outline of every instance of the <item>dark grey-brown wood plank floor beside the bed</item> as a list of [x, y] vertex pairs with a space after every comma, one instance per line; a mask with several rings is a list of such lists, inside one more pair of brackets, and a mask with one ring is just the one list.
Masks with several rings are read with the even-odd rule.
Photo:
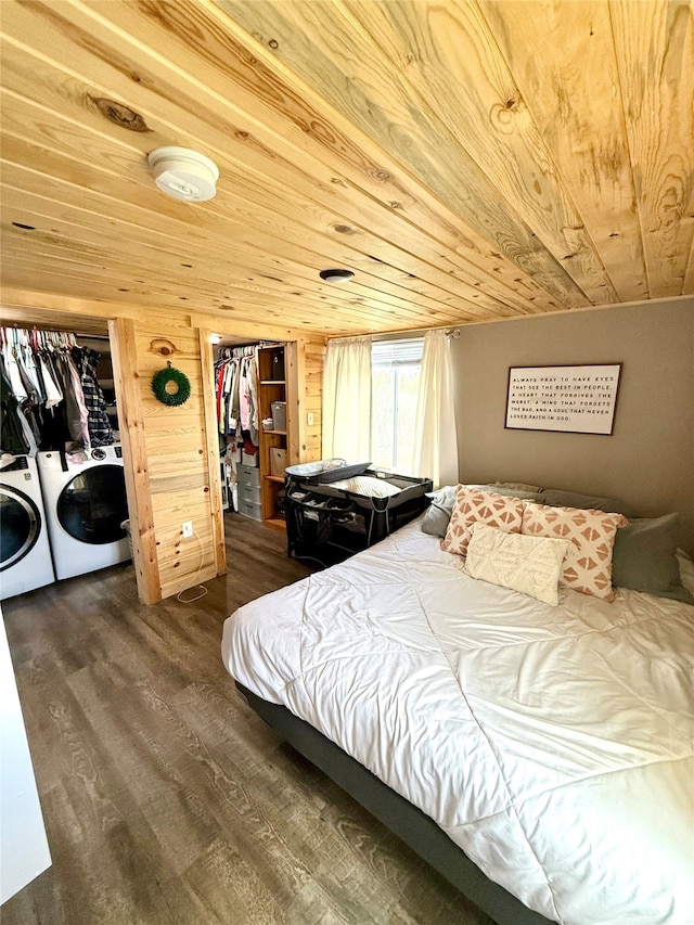
[[309, 569], [227, 519], [195, 603], [143, 606], [129, 565], [4, 602], [53, 865], [2, 925], [489, 925], [237, 695], [224, 618]]

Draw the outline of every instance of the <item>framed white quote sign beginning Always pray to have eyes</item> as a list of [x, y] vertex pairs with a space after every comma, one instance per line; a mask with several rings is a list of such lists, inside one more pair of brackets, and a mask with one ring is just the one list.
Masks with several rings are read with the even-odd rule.
[[511, 367], [506, 428], [612, 434], [621, 363]]

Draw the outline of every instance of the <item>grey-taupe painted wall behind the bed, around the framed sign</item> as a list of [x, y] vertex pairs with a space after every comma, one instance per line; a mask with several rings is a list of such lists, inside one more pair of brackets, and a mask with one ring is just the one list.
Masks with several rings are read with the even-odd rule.
[[[679, 511], [694, 554], [694, 299], [467, 325], [451, 341], [461, 481]], [[509, 367], [624, 363], [612, 436], [504, 428]]]

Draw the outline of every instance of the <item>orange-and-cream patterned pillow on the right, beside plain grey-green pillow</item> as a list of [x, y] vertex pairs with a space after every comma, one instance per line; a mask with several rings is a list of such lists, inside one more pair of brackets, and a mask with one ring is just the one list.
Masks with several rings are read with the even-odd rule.
[[550, 508], [527, 502], [523, 512], [523, 532], [570, 540], [564, 560], [561, 584], [612, 601], [612, 552], [615, 535], [629, 521], [622, 514], [579, 508]]

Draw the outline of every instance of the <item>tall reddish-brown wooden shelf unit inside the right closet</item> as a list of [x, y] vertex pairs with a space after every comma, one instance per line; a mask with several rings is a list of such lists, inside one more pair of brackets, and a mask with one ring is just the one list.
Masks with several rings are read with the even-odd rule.
[[[260, 422], [272, 417], [272, 402], [286, 402], [286, 425], [282, 431], [265, 431], [260, 424], [260, 500], [262, 521], [268, 527], [285, 528], [284, 517], [278, 514], [278, 496], [284, 487], [284, 474], [272, 474], [272, 451], [284, 453], [284, 466], [296, 463], [292, 440], [293, 389], [290, 377], [293, 370], [292, 344], [274, 344], [258, 348], [258, 403]], [[280, 374], [283, 377], [280, 377]]]

